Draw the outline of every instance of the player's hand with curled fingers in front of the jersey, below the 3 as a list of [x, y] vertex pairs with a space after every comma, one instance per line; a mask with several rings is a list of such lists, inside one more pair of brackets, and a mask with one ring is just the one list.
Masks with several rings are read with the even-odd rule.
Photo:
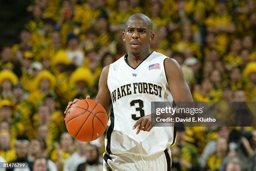
[[[138, 128], [137, 128], [138, 127]], [[133, 130], [137, 128], [136, 134], [140, 133], [141, 130], [149, 132], [154, 127], [151, 122], [151, 115], [141, 117], [134, 125]]]

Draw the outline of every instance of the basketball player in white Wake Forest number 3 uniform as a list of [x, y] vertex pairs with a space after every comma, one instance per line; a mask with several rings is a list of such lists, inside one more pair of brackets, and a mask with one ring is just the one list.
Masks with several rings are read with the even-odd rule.
[[[174, 127], [152, 125], [151, 102], [191, 102], [192, 95], [177, 61], [150, 52], [152, 28], [146, 15], [131, 15], [123, 32], [128, 53], [105, 66], [100, 76], [95, 100], [107, 113], [113, 104], [105, 138], [105, 171], [171, 171], [169, 145], [176, 133]], [[69, 102], [67, 110], [77, 101]]]

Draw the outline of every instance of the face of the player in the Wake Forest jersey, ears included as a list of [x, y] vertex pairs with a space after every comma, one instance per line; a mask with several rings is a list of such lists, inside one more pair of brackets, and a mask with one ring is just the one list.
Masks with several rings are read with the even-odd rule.
[[154, 33], [151, 33], [150, 27], [145, 20], [129, 20], [125, 32], [123, 32], [123, 41], [126, 44], [128, 52], [138, 55], [148, 53], [149, 43], [153, 41]]

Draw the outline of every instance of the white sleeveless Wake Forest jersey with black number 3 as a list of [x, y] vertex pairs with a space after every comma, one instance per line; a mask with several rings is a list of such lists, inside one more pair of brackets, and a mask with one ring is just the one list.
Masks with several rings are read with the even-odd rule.
[[174, 143], [174, 127], [154, 127], [150, 132], [132, 127], [144, 115], [151, 114], [151, 102], [173, 101], [164, 69], [163, 54], [153, 51], [132, 68], [127, 54], [110, 64], [108, 88], [113, 109], [105, 138], [106, 151], [149, 156]]

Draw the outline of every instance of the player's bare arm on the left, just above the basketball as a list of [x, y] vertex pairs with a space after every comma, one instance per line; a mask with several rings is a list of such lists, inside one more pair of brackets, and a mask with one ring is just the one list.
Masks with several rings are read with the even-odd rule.
[[96, 102], [100, 103], [107, 113], [109, 113], [111, 105], [111, 95], [108, 89], [108, 71], [109, 65], [102, 69], [99, 81], [99, 91], [95, 98]]

